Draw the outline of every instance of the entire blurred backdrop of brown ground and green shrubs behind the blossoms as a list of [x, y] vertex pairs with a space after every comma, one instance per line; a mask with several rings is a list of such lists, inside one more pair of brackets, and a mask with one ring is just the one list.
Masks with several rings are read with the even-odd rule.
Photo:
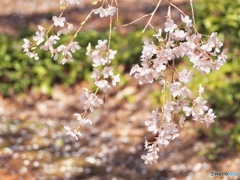
[[[157, 0], [121, 0], [119, 21], [129, 23], [151, 13]], [[188, 0], [173, 1], [191, 15]], [[152, 24], [165, 22], [168, 1], [162, 2]], [[83, 1], [65, 12], [77, 28], [91, 11]], [[37, 25], [49, 26], [59, 14], [59, 1], [2, 0], [0, 2], [0, 180], [8, 179], [200, 179], [210, 172], [240, 173], [240, 0], [196, 0], [198, 31], [216, 31], [228, 49], [228, 62], [219, 71], [195, 74], [192, 88], [205, 87], [205, 98], [217, 115], [209, 128], [186, 121], [180, 137], [161, 151], [159, 162], [145, 165], [144, 121], [161, 103], [160, 87], [138, 86], [128, 75], [139, 63], [142, 34], [148, 18], [113, 32], [111, 48], [118, 51], [113, 62], [121, 74], [120, 86], [106, 95], [106, 104], [93, 114], [93, 126], [82, 129], [80, 140], [66, 136], [64, 125], [77, 125], [81, 112], [79, 94], [91, 87], [91, 62], [85, 56], [88, 42], [108, 38], [108, 20], [93, 16], [78, 34], [82, 49], [74, 61], [60, 65], [51, 55], [40, 52], [40, 60], [29, 59], [21, 45], [31, 38]], [[173, 9], [177, 22], [179, 12]], [[65, 42], [71, 35], [64, 37]], [[191, 66], [185, 59], [181, 65]], [[236, 178], [237, 179], [237, 178]]]

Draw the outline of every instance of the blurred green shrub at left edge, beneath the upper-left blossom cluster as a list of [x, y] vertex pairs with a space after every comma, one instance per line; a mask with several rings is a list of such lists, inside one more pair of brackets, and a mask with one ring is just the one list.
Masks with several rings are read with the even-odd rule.
[[[83, 67], [76, 61], [61, 66], [51, 60], [49, 54], [40, 53], [40, 60], [28, 59], [22, 52], [22, 39], [12, 40], [0, 36], [0, 91], [20, 93], [30, 87], [38, 87], [43, 93], [51, 92], [53, 82], [71, 85]], [[83, 65], [84, 66], [84, 65]]]

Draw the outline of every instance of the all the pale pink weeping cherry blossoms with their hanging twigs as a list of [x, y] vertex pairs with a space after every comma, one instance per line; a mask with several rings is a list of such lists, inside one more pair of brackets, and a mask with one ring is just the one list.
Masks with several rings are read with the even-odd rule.
[[[74, 41], [74, 39], [90, 17], [96, 14], [100, 18], [107, 17], [110, 19], [108, 40], [98, 40], [98, 44], [93, 48], [91, 43], [86, 47], [86, 55], [93, 66], [91, 78], [94, 80], [96, 90], [91, 91], [83, 88], [79, 99], [84, 112], [74, 114], [79, 126], [64, 126], [67, 134], [76, 139], [81, 136], [81, 126], [92, 125], [88, 113], [104, 104], [104, 100], [99, 97], [98, 92], [107, 93], [120, 81], [119, 74], [116, 75], [111, 67], [117, 51], [110, 48], [111, 32], [114, 29], [112, 28], [112, 17], [118, 13], [117, 0], [93, 1], [92, 11], [82, 21], [69, 42], [60, 45], [58, 43], [62, 36], [70, 34], [74, 30], [73, 25], [63, 17], [65, 9], [69, 5], [76, 5], [81, 2], [82, 0], [60, 0], [62, 13], [59, 16], [52, 17], [52, 26], [46, 29], [39, 25], [33, 40], [29, 41], [25, 38], [22, 45], [23, 51], [30, 58], [39, 60], [37, 50], [40, 49], [49, 51], [55, 61], [60, 59], [60, 63], [64, 65], [72, 60], [73, 53], [82, 48], [79, 42]], [[206, 123], [207, 126], [214, 122], [216, 116], [203, 98], [204, 88], [199, 85], [198, 90], [192, 91], [189, 89], [188, 84], [192, 81], [194, 73], [199, 71], [205, 74], [218, 70], [226, 63], [227, 59], [226, 50], [223, 49], [223, 43], [218, 39], [217, 33], [214, 32], [210, 36], [203, 36], [198, 33], [194, 25], [194, 14], [192, 21], [189, 16], [175, 7], [171, 1], [169, 2], [169, 12], [164, 28], [159, 29], [154, 35], [156, 38], [155, 43], [151, 41], [144, 42], [140, 57], [141, 65], [134, 65], [130, 72], [130, 75], [137, 79], [140, 85], [151, 84], [155, 81], [159, 82], [164, 95], [162, 107], [153, 110], [150, 119], [145, 121], [148, 131], [155, 135], [155, 141], [148, 142], [147, 139], [145, 140], [147, 154], [142, 155], [142, 159], [146, 164], [157, 161], [159, 151], [179, 136], [179, 127], [183, 126], [186, 119], [191, 118], [194, 121]], [[191, 2], [192, 0], [190, 0], [190, 4]], [[161, 0], [159, 0], [152, 13], [142, 17], [150, 16], [144, 30], [148, 26], [153, 27], [150, 21], [160, 3]], [[182, 14], [179, 25], [175, 24], [171, 19], [171, 6], [177, 8]], [[175, 63], [182, 58], [186, 58], [192, 63], [190, 70], [178, 70], [176, 68]]]

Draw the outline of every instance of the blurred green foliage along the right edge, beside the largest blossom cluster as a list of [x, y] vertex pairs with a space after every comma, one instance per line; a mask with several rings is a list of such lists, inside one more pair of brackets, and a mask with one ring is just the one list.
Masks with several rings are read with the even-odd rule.
[[[240, 0], [199, 0], [194, 5], [199, 32], [217, 31], [228, 49], [226, 65], [196, 79], [205, 87], [208, 102], [219, 119], [208, 134], [215, 146], [203, 152], [214, 160], [226, 148], [240, 149]], [[234, 123], [233, 127], [225, 130], [226, 121]]]

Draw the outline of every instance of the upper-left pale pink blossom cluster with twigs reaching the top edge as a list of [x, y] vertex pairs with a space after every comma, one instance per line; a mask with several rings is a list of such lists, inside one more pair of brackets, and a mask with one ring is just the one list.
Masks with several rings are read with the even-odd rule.
[[[60, 4], [63, 4], [66, 7], [69, 4], [74, 5], [79, 4], [80, 2], [81, 0], [60, 0]], [[98, 2], [100, 1], [96, 1], [95, 4], [97, 4]], [[105, 7], [104, 5], [107, 7]], [[111, 17], [116, 13], [116, 11], [117, 11], [116, 7], [113, 7], [109, 4], [106, 5], [105, 2], [99, 8], [93, 9], [93, 11], [87, 16], [85, 21], [83, 21], [82, 25], [86, 23], [87, 19], [91, 17], [92, 13], [99, 14], [99, 16], [102, 18], [107, 16]], [[51, 57], [53, 57], [54, 60], [57, 60], [59, 58], [59, 55], [61, 55], [60, 63], [65, 64], [66, 62], [72, 59], [72, 53], [81, 49], [78, 42], [74, 41], [75, 36], [72, 38], [70, 42], [64, 45], [61, 44], [57, 46], [57, 42], [60, 40], [61, 35], [67, 35], [71, 33], [74, 28], [73, 24], [68, 23], [66, 21], [66, 18], [62, 16], [63, 12], [59, 17], [57, 16], [52, 17], [53, 25], [48, 30], [39, 25], [38, 31], [36, 31], [35, 36], [33, 37], [33, 42], [24, 38], [24, 44], [22, 45], [22, 48], [26, 55], [28, 55], [30, 58], [34, 58], [35, 60], [39, 60], [36, 49], [40, 46], [41, 50], [50, 51]], [[77, 32], [81, 29], [81, 27], [77, 30]], [[52, 31], [51, 35], [49, 35], [50, 31]]]

